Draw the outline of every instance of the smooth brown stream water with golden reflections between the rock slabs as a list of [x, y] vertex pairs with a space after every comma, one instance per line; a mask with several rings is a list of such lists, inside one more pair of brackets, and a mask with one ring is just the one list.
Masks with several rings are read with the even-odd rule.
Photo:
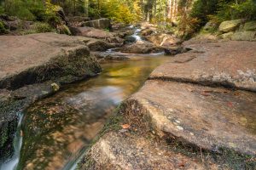
[[71, 169], [113, 110], [143, 85], [164, 56], [102, 65], [102, 74], [32, 105], [22, 121], [19, 168]]

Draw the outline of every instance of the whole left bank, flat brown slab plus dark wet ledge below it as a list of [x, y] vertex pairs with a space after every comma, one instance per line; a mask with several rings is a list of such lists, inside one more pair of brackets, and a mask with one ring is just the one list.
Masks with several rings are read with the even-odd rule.
[[53, 94], [51, 81], [67, 83], [101, 71], [83, 41], [54, 33], [0, 37], [0, 88], [18, 88], [0, 89], [0, 161], [13, 154], [18, 113]]

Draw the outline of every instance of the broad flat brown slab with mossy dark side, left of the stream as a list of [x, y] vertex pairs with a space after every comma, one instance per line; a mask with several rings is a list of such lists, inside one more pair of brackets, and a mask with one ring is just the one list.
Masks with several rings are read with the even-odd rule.
[[0, 37], [0, 88], [101, 71], [79, 37], [55, 33]]

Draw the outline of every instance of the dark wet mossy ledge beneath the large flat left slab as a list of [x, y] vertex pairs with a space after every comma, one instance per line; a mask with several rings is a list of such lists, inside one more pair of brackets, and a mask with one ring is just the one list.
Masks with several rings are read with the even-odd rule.
[[14, 154], [19, 113], [35, 100], [53, 94], [51, 83], [27, 85], [15, 91], [0, 89], [0, 164]]

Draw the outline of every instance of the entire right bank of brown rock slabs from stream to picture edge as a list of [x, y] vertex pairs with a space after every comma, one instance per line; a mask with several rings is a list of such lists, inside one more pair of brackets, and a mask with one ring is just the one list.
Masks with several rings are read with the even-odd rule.
[[254, 169], [255, 42], [196, 40], [160, 65], [78, 169]]

